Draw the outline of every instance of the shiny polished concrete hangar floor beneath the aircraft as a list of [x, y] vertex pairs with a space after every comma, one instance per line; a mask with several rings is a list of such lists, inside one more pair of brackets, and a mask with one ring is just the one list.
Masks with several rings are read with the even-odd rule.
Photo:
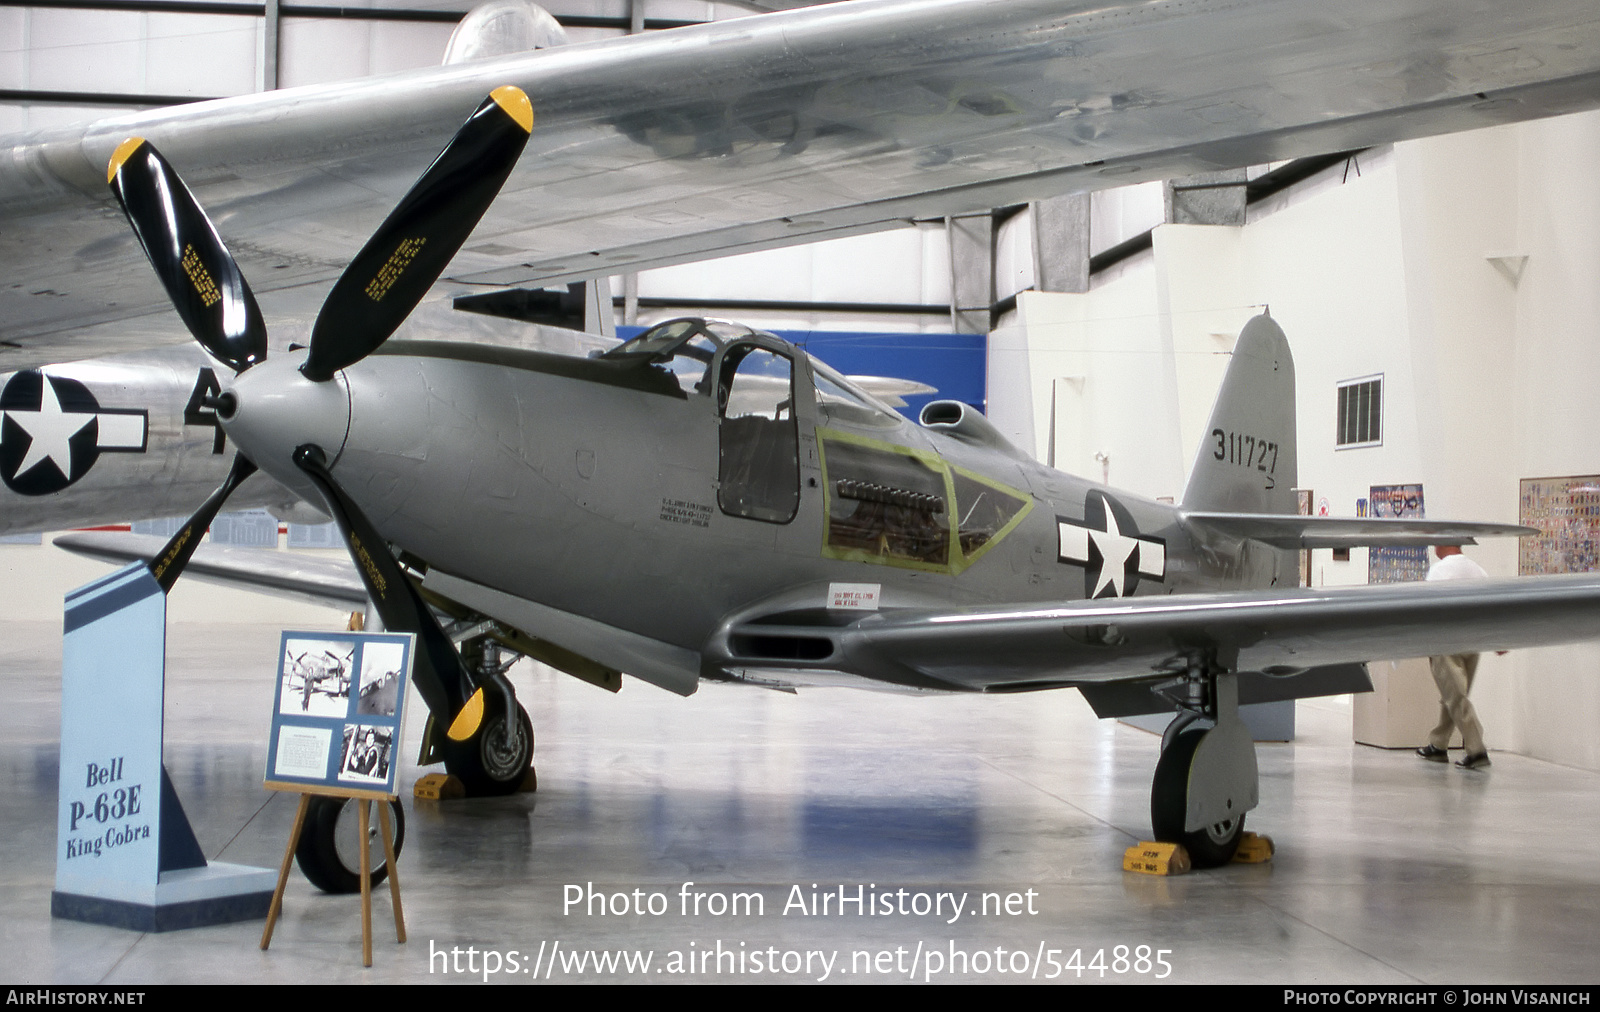
[[[269, 868], [294, 810], [259, 786], [277, 641], [267, 624], [176, 623], [168, 645], [166, 764], [200, 844]], [[1299, 740], [1259, 749], [1251, 828], [1275, 837], [1277, 860], [1157, 879], [1120, 869], [1149, 831], [1157, 740], [1096, 721], [1077, 693], [706, 685], [680, 700], [629, 681], [613, 697], [526, 665], [514, 681], [538, 735], [538, 794], [405, 801], [410, 942], [384, 934], [379, 894], [371, 969], [360, 966], [358, 902], [298, 873], [267, 953], [261, 922], [141, 935], [53, 921], [59, 658], [59, 624], [0, 623], [0, 945], [16, 983], [477, 978], [430, 959], [453, 948], [462, 970], [469, 948], [474, 966], [493, 950], [502, 970], [515, 950], [518, 972], [491, 977], [501, 982], [533, 982], [536, 958], [538, 978], [552, 982], [803, 980], [824, 977], [827, 958], [829, 978], [846, 982], [906, 980], [914, 961], [920, 980], [952, 959], [957, 972], [936, 980], [1032, 980], [1035, 964], [1038, 980], [1078, 980], [1053, 967], [1053, 951], [1056, 964], [1078, 951], [1090, 967], [1104, 951], [1104, 980], [1117, 982], [1163, 970], [1184, 983], [1595, 978], [1600, 773], [1501, 753], [1469, 773], [1355, 746], [1347, 701], [1302, 703]], [[402, 781], [416, 775], [408, 767]], [[563, 911], [565, 890], [590, 882], [659, 892], [667, 913]], [[786, 911], [794, 887], [853, 895], [858, 884], [968, 894], [968, 914]], [[765, 913], [685, 916], [685, 889], [704, 903], [757, 892]], [[1018, 913], [971, 916], [981, 894], [1019, 894]], [[718, 946], [734, 954], [722, 972]], [[1115, 972], [1115, 946], [1130, 946], [1126, 972]], [[1138, 946], [1149, 967], [1133, 962]], [[590, 950], [650, 953], [651, 964], [573, 969]], [[755, 972], [757, 951], [762, 970], [786, 954], [800, 969]], [[965, 953], [965, 974], [952, 951]]]

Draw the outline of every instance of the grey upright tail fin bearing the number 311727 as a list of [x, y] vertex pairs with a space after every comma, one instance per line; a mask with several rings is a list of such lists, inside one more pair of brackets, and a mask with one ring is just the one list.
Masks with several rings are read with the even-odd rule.
[[1262, 314], [1245, 323], [1184, 488], [1187, 509], [1296, 512], [1294, 357]]

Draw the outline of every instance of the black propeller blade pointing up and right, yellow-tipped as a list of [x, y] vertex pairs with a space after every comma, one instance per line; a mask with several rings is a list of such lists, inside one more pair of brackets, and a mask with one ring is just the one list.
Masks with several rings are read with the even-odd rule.
[[301, 367], [309, 380], [331, 380], [405, 322], [506, 184], [531, 130], [522, 88], [483, 99], [328, 293]]

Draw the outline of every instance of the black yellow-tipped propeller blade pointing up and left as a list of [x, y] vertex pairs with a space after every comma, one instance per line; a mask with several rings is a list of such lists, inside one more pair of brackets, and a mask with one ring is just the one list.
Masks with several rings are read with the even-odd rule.
[[162, 152], [144, 138], [128, 138], [112, 154], [106, 183], [195, 341], [235, 373], [264, 360], [267, 327], [256, 296]]

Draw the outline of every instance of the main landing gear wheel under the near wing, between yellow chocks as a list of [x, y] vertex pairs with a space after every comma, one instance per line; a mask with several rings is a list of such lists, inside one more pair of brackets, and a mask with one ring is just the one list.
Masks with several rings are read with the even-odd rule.
[[1158, 692], [1179, 714], [1162, 738], [1150, 785], [1155, 839], [1182, 844], [1195, 868], [1226, 865], [1245, 813], [1261, 801], [1256, 745], [1238, 717], [1238, 676], [1214, 655], [1194, 653], [1186, 673]]

